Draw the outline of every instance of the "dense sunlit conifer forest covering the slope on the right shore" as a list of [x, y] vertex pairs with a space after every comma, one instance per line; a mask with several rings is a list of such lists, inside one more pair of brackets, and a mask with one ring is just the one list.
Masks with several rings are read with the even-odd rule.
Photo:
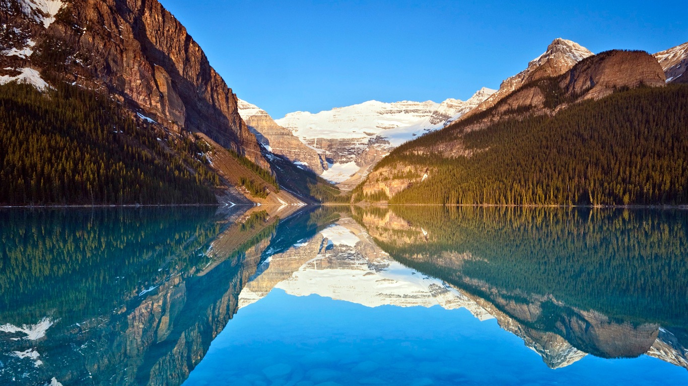
[[[397, 148], [394, 163], [429, 178], [391, 203], [654, 205], [688, 203], [688, 87], [616, 91], [557, 115], [529, 116], [466, 132], [449, 126]], [[471, 157], [428, 152], [455, 140]], [[422, 154], [419, 154], [422, 153]]]

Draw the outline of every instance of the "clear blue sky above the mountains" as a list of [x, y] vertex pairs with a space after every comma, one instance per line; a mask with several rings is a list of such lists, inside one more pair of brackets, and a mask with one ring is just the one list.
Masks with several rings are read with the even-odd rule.
[[366, 100], [466, 100], [557, 37], [595, 53], [688, 41], [676, 1], [160, 1], [239, 98], [275, 119]]

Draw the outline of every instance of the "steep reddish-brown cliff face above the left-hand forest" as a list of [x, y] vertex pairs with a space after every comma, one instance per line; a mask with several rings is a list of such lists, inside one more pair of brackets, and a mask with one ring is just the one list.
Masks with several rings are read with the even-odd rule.
[[[38, 69], [107, 91], [173, 130], [202, 132], [261, 166], [237, 98], [186, 28], [157, 0], [21, 0], [0, 3], [12, 28], [0, 75]], [[8, 27], [5, 27], [6, 29]], [[29, 48], [30, 53], [8, 55]], [[8, 68], [10, 68], [8, 70]]]

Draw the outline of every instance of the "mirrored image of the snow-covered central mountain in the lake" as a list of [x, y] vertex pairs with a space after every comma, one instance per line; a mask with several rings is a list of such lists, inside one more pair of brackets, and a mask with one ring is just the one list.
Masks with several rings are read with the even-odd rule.
[[442, 280], [390, 258], [351, 218], [343, 218], [309, 240], [270, 256], [241, 291], [239, 306], [257, 302], [272, 288], [294, 296], [316, 294], [368, 307], [466, 308], [480, 320], [493, 319]]

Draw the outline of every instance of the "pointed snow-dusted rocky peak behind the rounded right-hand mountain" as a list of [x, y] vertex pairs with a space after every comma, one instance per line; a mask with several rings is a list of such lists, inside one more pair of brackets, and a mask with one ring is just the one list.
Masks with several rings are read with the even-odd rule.
[[499, 86], [499, 90], [493, 93], [490, 98], [477, 106], [471, 113], [467, 113], [465, 117], [469, 117], [480, 111], [485, 111], [500, 100], [504, 99], [513, 91], [519, 89], [524, 84], [533, 82], [538, 79], [546, 78], [548, 76], [559, 76], [562, 73], [570, 70], [571, 67], [579, 63], [581, 60], [592, 56], [592, 52], [587, 48], [562, 38], [556, 38], [547, 50], [528, 63], [528, 67], [523, 71], [517, 73], [515, 76], [506, 78]]

